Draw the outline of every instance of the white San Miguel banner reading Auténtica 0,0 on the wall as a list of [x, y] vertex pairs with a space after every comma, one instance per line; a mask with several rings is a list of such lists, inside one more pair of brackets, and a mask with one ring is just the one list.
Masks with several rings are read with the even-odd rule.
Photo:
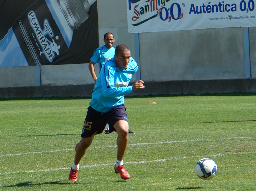
[[254, 27], [254, 0], [127, 0], [129, 33]]

